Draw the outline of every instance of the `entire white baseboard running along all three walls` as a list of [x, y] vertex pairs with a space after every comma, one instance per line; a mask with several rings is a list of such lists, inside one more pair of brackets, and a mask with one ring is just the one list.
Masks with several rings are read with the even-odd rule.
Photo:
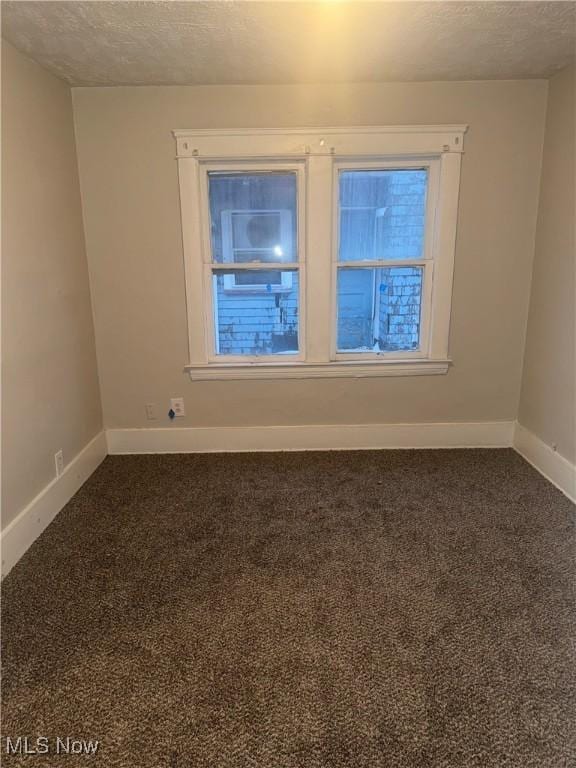
[[320, 424], [277, 427], [109, 429], [101, 432], [0, 535], [2, 576], [86, 482], [107, 453], [214, 453], [393, 448], [508, 448], [513, 446], [557, 488], [576, 501], [576, 466], [512, 421], [432, 424]]

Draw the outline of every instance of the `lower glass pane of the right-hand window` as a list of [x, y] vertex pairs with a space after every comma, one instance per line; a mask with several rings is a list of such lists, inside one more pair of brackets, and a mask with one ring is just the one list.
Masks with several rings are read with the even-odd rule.
[[338, 351], [418, 349], [422, 267], [338, 270]]

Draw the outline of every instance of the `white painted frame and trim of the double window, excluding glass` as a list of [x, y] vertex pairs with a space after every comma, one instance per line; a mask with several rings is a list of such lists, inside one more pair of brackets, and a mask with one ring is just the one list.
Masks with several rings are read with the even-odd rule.
[[[463, 140], [467, 126], [176, 130], [193, 380], [273, 379], [444, 374], [448, 354], [452, 279]], [[346, 169], [426, 168], [425, 245], [422, 259], [374, 262], [378, 267], [421, 266], [424, 284], [418, 350], [348, 353], [336, 349], [338, 174]], [[299, 352], [218, 355], [212, 306], [208, 173], [297, 173]], [[356, 267], [372, 262], [355, 262]], [[342, 266], [342, 264], [340, 264]], [[263, 263], [243, 265], [266, 268]], [[328, 289], [327, 289], [328, 288]]]

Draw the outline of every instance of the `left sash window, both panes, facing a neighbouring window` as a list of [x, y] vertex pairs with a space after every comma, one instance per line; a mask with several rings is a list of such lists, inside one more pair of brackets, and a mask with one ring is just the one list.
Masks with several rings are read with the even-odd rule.
[[298, 170], [209, 168], [207, 183], [211, 352], [227, 360], [298, 355]]

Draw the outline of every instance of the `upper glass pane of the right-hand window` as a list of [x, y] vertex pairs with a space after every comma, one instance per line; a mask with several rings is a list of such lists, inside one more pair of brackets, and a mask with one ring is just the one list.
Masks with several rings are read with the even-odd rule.
[[340, 261], [419, 259], [425, 170], [340, 172]]

